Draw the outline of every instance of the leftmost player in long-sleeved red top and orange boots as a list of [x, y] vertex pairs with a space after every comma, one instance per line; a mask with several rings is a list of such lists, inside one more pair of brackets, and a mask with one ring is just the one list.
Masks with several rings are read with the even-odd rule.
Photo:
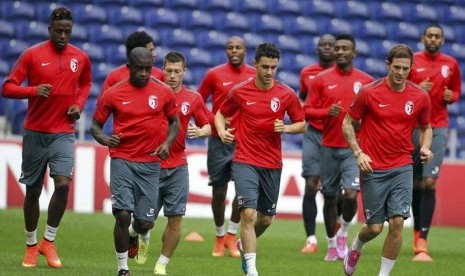
[[[19, 182], [26, 185], [23, 207], [27, 244], [25, 267], [35, 267], [39, 253], [47, 258], [50, 267], [62, 266], [54, 241], [73, 175], [75, 123], [92, 83], [89, 57], [69, 43], [72, 29], [71, 11], [63, 7], [54, 9], [48, 26], [50, 39], [24, 51], [2, 89], [4, 97], [28, 99], [29, 105], [19, 178]], [[26, 79], [27, 86], [21, 86]], [[39, 198], [47, 165], [55, 190], [48, 206], [44, 238], [37, 244]]]

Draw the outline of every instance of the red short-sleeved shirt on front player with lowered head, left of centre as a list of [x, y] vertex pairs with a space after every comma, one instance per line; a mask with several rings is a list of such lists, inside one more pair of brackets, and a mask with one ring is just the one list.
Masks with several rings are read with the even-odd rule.
[[113, 114], [113, 133], [121, 133], [117, 147], [109, 148], [112, 158], [134, 162], [160, 161], [150, 156], [164, 142], [163, 120], [177, 114], [173, 91], [160, 80], [150, 78], [144, 87], [133, 86], [129, 79], [108, 88], [101, 95], [94, 119], [104, 124]]

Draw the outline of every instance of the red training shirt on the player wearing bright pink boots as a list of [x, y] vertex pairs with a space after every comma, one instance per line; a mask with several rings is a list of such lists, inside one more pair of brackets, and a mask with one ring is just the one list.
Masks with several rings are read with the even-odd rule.
[[[373, 80], [373, 77], [356, 68], [344, 73], [337, 66], [321, 72], [313, 79], [310, 95], [305, 100], [305, 118], [324, 119], [323, 146], [349, 147], [342, 134], [342, 121], [360, 87]], [[342, 112], [337, 117], [329, 116], [329, 108], [338, 101], [341, 101]]]

